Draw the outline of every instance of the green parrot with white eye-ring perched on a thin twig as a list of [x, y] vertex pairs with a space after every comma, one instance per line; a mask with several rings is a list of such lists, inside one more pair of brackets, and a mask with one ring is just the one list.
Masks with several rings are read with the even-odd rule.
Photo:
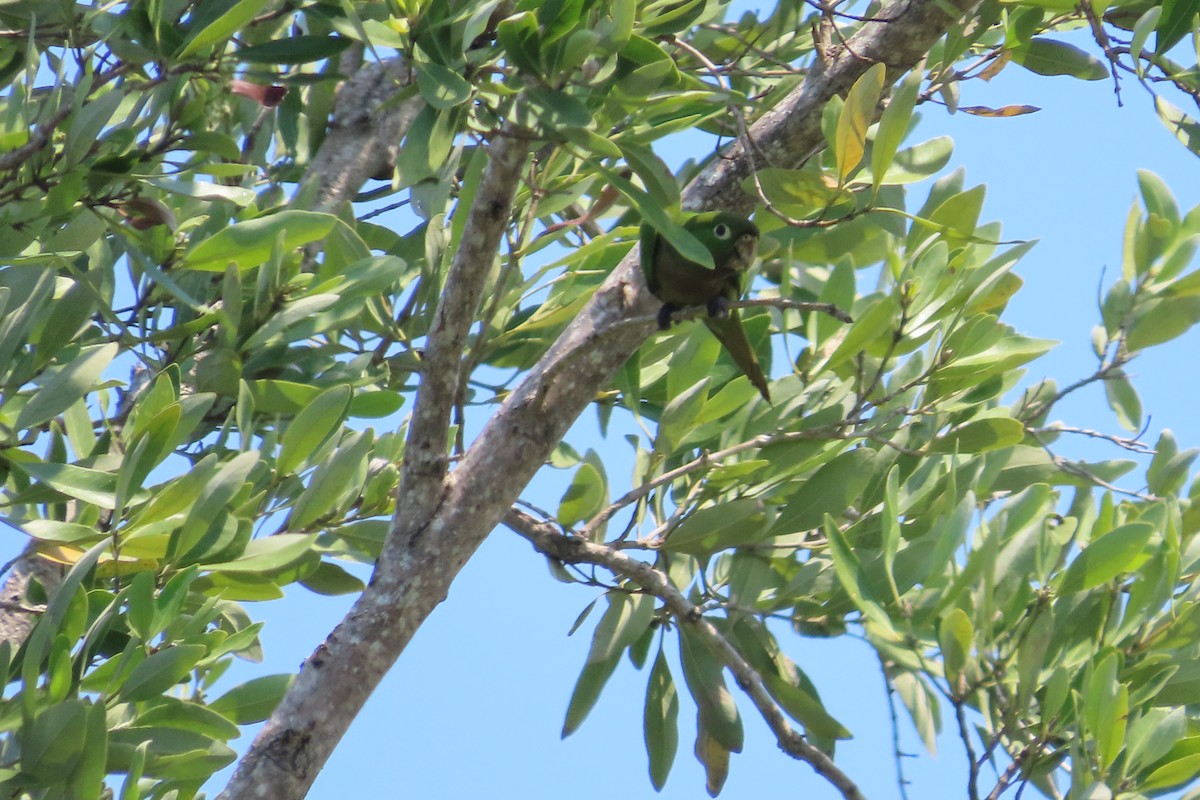
[[659, 327], [671, 327], [671, 314], [680, 308], [704, 306], [708, 330], [769, 403], [767, 375], [750, 348], [738, 309], [728, 307], [742, 297], [742, 276], [754, 264], [758, 228], [728, 211], [694, 213], [683, 227], [713, 254], [715, 269], [688, 260], [658, 230], [642, 223], [642, 275], [650, 293], [662, 301]]

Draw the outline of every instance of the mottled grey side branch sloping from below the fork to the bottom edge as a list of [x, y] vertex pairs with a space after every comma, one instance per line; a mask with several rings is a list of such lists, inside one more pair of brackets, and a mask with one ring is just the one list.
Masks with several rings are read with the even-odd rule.
[[701, 609], [674, 588], [671, 579], [644, 561], [625, 555], [605, 545], [593, 545], [577, 536], [564, 536], [550, 523], [511, 509], [504, 524], [528, 539], [533, 546], [551, 558], [568, 564], [595, 564], [629, 578], [638, 587], [661, 600], [679, 625], [690, 625], [708, 649], [716, 656], [754, 702], [767, 727], [775, 734], [779, 748], [792, 758], [809, 764], [823, 778], [841, 792], [847, 800], [862, 800], [862, 793], [848, 775], [838, 769], [833, 759], [810, 745], [788, 723], [784, 710], [772, 698], [762, 675], [750, 666], [738, 649], [721, 636], [716, 627], [704, 619]]

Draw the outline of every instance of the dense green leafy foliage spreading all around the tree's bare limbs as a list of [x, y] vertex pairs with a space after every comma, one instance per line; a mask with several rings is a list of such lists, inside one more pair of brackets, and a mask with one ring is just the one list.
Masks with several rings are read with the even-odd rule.
[[[744, 138], [863, 25], [797, 2], [761, 18], [726, 11], [0, 5], [4, 515], [70, 567], [25, 597], [41, 612], [34, 633], [0, 646], [6, 792], [96, 798], [121, 776], [122, 798], [192, 796], [234, 760], [226, 742], [289, 685], [215, 688], [232, 657], [258, 656], [240, 603], [294, 582], [362, 589], [354, 565], [379, 557], [395, 511], [398, 411], [421, 385], [468, 211], [488, 203], [479, 185], [502, 128], [534, 142], [535, 158], [462, 354], [452, 456], [642, 219], [680, 252], [695, 247], [680, 191], [718, 156], [697, 145], [702, 162], [676, 175], [656, 152], [684, 132], [714, 148]], [[649, 338], [595, 398], [606, 437], [634, 447], [628, 487], [594, 450], [547, 453], [547, 469], [574, 470], [550, 522], [610, 553], [641, 552], [728, 646], [714, 650], [644, 576], [557, 555], [560, 577], [606, 597], [564, 734], [628, 654], [652, 664], [655, 788], [686, 691], [696, 756], [720, 790], [749, 710], [726, 669], [738, 685], [757, 675], [766, 702], [834, 756], [850, 732], [780, 639], [856, 632], [926, 742], [953, 711], [973, 793], [979, 753], [1012, 765], [997, 789], [1028, 780], [1049, 796], [1068, 784], [1070, 796], [1148, 794], [1200, 772], [1196, 451], [1163, 432], [1129, 479], [1132, 461], [1060, 456], [1073, 431], [1048, 422], [1068, 392], [1103, 381], [1118, 422], [1141, 429], [1122, 367], [1200, 321], [1200, 210], [1183, 213], [1160, 179], [1140, 175], [1122, 277], [1092, 336], [1096, 371], [1021, 390], [1052, 344], [1001, 319], [1030, 245], [982, 222], [984, 190], [961, 173], [912, 188], [943, 170], [950, 143], [905, 142], [917, 103], [955, 110], [965, 82], [1015, 62], [1133, 76], [1200, 152], [1198, 122], [1165, 94], [1200, 92], [1196, 68], [1175, 61], [1195, 31], [1188, 13], [1169, 1], [985, 1], [894, 89], [876, 65], [829, 102], [823, 152], [744, 181], [766, 234], [755, 294], [769, 302], [743, 314], [760, 361], [786, 365], [776, 404], [684, 324]], [[1081, 26], [1103, 58], [1054, 36]], [[361, 114], [414, 113], [389, 174], [359, 199], [402, 198], [404, 233], [330, 200], [330, 178], [313, 174], [337, 134], [343, 71], [396, 53], [412, 79]], [[1123, 477], [1141, 488], [1120, 488]], [[613, 500], [616, 486], [628, 493]]]

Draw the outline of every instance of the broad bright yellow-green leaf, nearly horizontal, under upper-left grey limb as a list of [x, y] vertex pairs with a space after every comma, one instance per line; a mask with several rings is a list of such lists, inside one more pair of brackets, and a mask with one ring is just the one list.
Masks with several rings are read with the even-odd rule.
[[337, 217], [316, 211], [286, 210], [256, 217], [203, 240], [184, 255], [180, 266], [224, 272], [236, 264], [240, 270], [250, 270], [266, 263], [276, 242], [288, 252], [324, 239], [337, 223]]

